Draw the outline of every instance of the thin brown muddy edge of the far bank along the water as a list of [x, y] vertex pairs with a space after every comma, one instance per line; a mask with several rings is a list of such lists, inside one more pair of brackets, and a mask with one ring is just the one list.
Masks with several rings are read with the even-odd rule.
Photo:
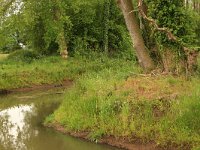
[[73, 85], [73, 80], [65, 80], [60, 84], [42, 84], [42, 85], [32, 85], [30, 87], [23, 87], [17, 89], [0, 89], [0, 95], [16, 93], [16, 92], [30, 92], [37, 90], [49, 90], [53, 88], [66, 88]]

